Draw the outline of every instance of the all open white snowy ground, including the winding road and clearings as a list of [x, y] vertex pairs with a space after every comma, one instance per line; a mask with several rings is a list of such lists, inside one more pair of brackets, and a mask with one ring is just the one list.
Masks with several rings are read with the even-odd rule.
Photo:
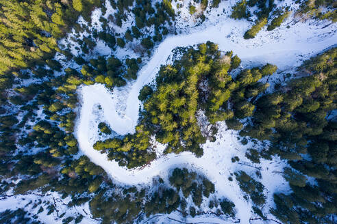
[[[108, 18], [115, 10], [111, 8], [109, 1], [106, 1], [107, 12], [103, 15]], [[180, 1], [179, 1], [180, 2]], [[207, 176], [216, 187], [216, 195], [219, 197], [227, 197], [236, 205], [236, 218], [240, 219], [240, 223], [261, 223], [255, 220], [257, 216], [251, 211], [251, 203], [243, 198], [242, 191], [233, 176], [238, 170], [244, 170], [256, 180], [262, 182], [266, 187], [264, 194], [267, 196], [266, 206], [262, 209], [268, 213], [269, 207], [273, 206], [272, 195], [275, 191], [288, 191], [288, 184], [284, 181], [280, 171], [284, 167], [284, 162], [279, 158], [273, 160], [261, 160], [260, 164], [252, 164], [245, 157], [247, 148], [253, 143], [242, 145], [237, 139], [237, 133], [232, 130], [226, 130], [225, 124], [219, 124], [219, 134], [214, 143], [207, 142], [203, 145], [204, 155], [201, 158], [195, 158], [194, 155], [184, 152], [179, 155], [168, 154], [160, 156], [153, 161], [151, 165], [143, 169], [128, 170], [119, 167], [114, 161], [109, 161], [105, 154], [100, 154], [92, 148], [93, 143], [101, 140], [98, 135], [97, 125], [104, 121], [110, 124], [110, 127], [119, 135], [125, 135], [134, 132], [138, 118], [138, 108], [140, 102], [138, 93], [143, 85], [153, 81], [160, 65], [171, 62], [172, 50], [177, 46], [190, 46], [199, 44], [208, 40], [219, 44], [221, 51], [234, 51], [242, 59], [242, 67], [257, 66], [261, 64], [271, 63], [279, 68], [278, 74], [271, 76], [269, 81], [283, 81], [279, 74], [293, 71], [299, 66], [304, 59], [308, 59], [312, 55], [316, 55], [325, 48], [337, 44], [337, 25], [326, 25], [329, 22], [314, 22], [309, 20], [305, 23], [297, 22], [294, 18], [289, 18], [281, 27], [266, 31], [266, 27], [251, 40], [244, 40], [243, 33], [251, 27], [251, 24], [245, 20], [232, 20], [227, 18], [229, 11], [235, 4], [236, 0], [222, 1], [218, 9], [212, 9], [212, 12], [205, 13], [208, 20], [199, 25], [198, 19], [191, 16], [188, 12], [188, 1], [184, 1], [184, 7], [181, 8], [181, 14], [177, 18], [176, 31], [180, 33], [178, 36], [169, 36], [155, 48], [155, 53], [146, 66], [138, 72], [138, 79], [134, 83], [129, 83], [126, 87], [116, 88], [114, 92], [110, 92], [103, 85], [82, 86], [79, 89], [82, 107], [79, 109], [79, 117], [77, 119], [75, 136], [79, 141], [79, 148], [83, 154], [86, 154], [93, 163], [100, 165], [115, 181], [120, 184], [142, 185], [149, 184], [154, 176], [162, 176], [167, 179], [168, 169], [173, 167], [190, 167]], [[289, 1], [281, 1], [282, 4], [289, 4]], [[279, 4], [279, 3], [277, 3]], [[177, 3], [173, 3], [176, 9]], [[92, 13], [92, 27], [101, 30], [99, 24], [99, 16], [101, 10], [97, 9]], [[129, 16], [130, 17], [130, 16]], [[133, 19], [130, 17], [123, 27], [117, 27], [110, 23], [111, 29], [118, 33], [125, 33], [125, 30], [132, 25]], [[85, 23], [83, 19], [79, 19], [79, 23]], [[287, 28], [287, 26], [290, 26]], [[83, 38], [88, 33], [84, 32], [76, 38]], [[78, 51], [75, 48], [78, 44], [70, 39], [64, 39], [60, 44], [72, 43], [71, 50], [74, 54]], [[137, 43], [132, 43], [137, 44]], [[136, 57], [132, 50], [132, 44], [127, 44], [125, 48], [117, 48], [114, 53], [117, 57], [127, 57], [132, 55]], [[139, 44], [139, 43], [138, 43]], [[77, 46], [78, 47], [78, 46]], [[95, 52], [100, 55], [110, 55], [112, 51], [103, 42], [98, 42]], [[88, 55], [92, 57], [92, 55]], [[70, 63], [69, 61], [64, 64]], [[80, 66], [71, 64], [72, 68], [77, 70]], [[97, 110], [100, 104], [102, 110]], [[162, 151], [162, 145], [157, 145], [157, 152]], [[260, 147], [260, 146], [259, 146]], [[232, 163], [231, 158], [238, 156], [239, 163]], [[256, 171], [260, 171], [261, 178], [255, 175]], [[232, 176], [234, 181], [228, 180]], [[26, 206], [29, 201], [41, 199], [42, 201], [50, 201], [55, 204], [59, 211], [47, 216], [47, 211], [38, 214], [38, 219], [43, 223], [62, 223], [62, 219], [58, 216], [63, 212], [66, 215], [83, 214], [82, 223], [98, 223], [99, 221], [90, 218], [90, 210], [88, 204], [82, 207], [68, 208], [66, 203], [68, 199], [61, 199], [60, 195], [55, 193], [47, 193], [39, 195], [32, 193], [30, 195], [6, 196], [0, 198], [0, 211], [5, 209], [25, 208], [32, 214], [36, 214], [39, 206], [32, 207], [32, 204]], [[205, 208], [206, 205], [203, 205]], [[60, 212], [60, 214], [58, 214]], [[271, 214], [269, 219], [275, 219]], [[175, 212], [173, 214], [158, 214], [151, 216], [144, 223], [232, 223], [227, 219], [204, 214], [195, 218], [187, 217], [183, 219], [181, 214]], [[274, 223], [269, 221], [268, 223]]]

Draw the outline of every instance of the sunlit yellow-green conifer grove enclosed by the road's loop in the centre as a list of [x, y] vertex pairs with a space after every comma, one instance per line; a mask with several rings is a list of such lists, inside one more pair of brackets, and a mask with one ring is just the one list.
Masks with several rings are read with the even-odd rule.
[[[155, 158], [149, 148], [151, 133], [160, 143], [167, 143], [165, 153], [190, 151], [201, 156], [200, 144], [205, 142], [205, 137], [197, 124], [197, 110], [204, 110], [212, 124], [227, 120], [229, 128], [242, 128], [237, 119], [231, 118], [253, 114], [255, 107], [249, 98], [265, 89], [267, 85], [258, 81], [276, 69], [266, 65], [261, 69], [244, 70], [233, 81], [228, 72], [240, 64], [240, 59], [232, 55], [229, 52], [221, 56], [212, 42], [199, 44], [197, 50], [186, 49], [180, 61], [160, 68], [155, 91], [147, 85], [140, 91], [144, 111], [136, 133], [126, 135], [123, 140], [98, 141], [94, 148], [108, 149], [109, 158], [118, 160], [120, 165], [144, 165]], [[232, 66], [232, 61], [235, 66]], [[127, 64], [130, 69], [138, 69], [136, 59], [129, 59]], [[208, 92], [203, 90], [203, 85], [208, 85]], [[245, 88], [249, 89], [247, 94]], [[228, 109], [229, 100], [236, 102], [232, 109]], [[214, 139], [216, 128], [213, 129], [210, 138]]]

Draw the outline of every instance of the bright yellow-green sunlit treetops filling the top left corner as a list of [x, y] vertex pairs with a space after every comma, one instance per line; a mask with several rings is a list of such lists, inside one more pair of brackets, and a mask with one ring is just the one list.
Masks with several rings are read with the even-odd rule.
[[1, 28], [0, 74], [16, 68], [47, 64], [59, 70], [58, 61], [51, 58], [60, 51], [57, 40], [64, 37], [79, 14], [90, 18], [90, 12], [100, 1], [0, 1]]

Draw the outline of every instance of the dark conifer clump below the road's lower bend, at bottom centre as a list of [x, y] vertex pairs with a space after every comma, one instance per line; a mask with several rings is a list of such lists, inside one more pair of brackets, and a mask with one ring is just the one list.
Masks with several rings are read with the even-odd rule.
[[[202, 189], [204, 191], [205, 189], [211, 189], [214, 192], [210, 187], [214, 187], [212, 182], [185, 168], [175, 168], [168, 178], [170, 183], [174, 185], [173, 188], [167, 186], [161, 178], [154, 179], [153, 183], [158, 184], [154, 187], [158, 190], [151, 193], [147, 193], [145, 189], [138, 191], [136, 187], [124, 188], [123, 195], [114, 193], [114, 191], [101, 191], [90, 201], [92, 215], [102, 218], [103, 223], [131, 223], [135, 220], [141, 220], [145, 216], [149, 217], [158, 213], [170, 214], [177, 209], [186, 214], [186, 198], [189, 195], [192, 195], [195, 206], [200, 208], [203, 200]], [[200, 180], [202, 180], [202, 184]], [[185, 189], [183, 197], [179, 196], [180, 189]], [[224, 199], [224, 201], [230, 206], [234, 206], [227, 199]], [[191, 215], [196, 214], [195, 206], [190, 207]], [[218, 206], [218, 204], [215, 206]], [[114, 210], [114, 212], [111, 212], [111, 210]], [[234, 217], [234, 210], [228, 210], [232, 212], [231, 216]]]

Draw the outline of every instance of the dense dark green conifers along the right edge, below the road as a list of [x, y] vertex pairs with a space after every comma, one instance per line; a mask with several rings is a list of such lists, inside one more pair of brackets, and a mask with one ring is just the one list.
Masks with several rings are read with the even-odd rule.
[[[292, 169], [284, 170], [284, 178], [292, 193], [274, 195], [276, 207], [271, 210], [284, 223], [331, 223], [330, 214], [337, 209], [336, 191], [332, 190], [336, 187], [337, 139], [333, 133], [337, 126], [336, 118], [327, 119], [336, 109], [336, 56], [337, 50], [332, 48], [305, 61], [299, 70], [309, 76], [292, 79], [286, 87], [258, 98], [252, 124], [240, 132], [270, 139], [266, 153], [289, 160]], [[262, 71], [267, 75], [275, 68], [267, 65]], [[310, 185], [306, 176], [318, 185]]]

